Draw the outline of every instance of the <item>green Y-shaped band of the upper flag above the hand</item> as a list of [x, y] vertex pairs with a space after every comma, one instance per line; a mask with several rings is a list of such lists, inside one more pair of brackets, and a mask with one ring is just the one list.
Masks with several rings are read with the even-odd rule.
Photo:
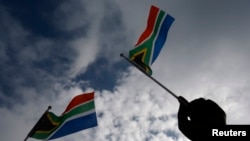
[[164, 14], [165, 12], [164, 11], [160, 11], [158, 17], [157, 17], [157, 21], [156, 21], [156, 24], [155, 24], [155, 27], [154, 27], [154, 31], [152, 33], [152, 35], [144, 42], [142, 43], [141, 45], [137, 46], [136, 48], [134, 48], [133, 50], [130, 51], [130, 57], [132, 57], [134, 54], [136, 54], [137, 52], [143, 50], [144, 48], [148, 48], [147, 49], [147, 54], [145, 56], [145, 60], [143, 60], [143, 62], [147, 65], [151, 65], [150, 64], [150, 58], [151, 58], [151, 52], [152, 52], [152, 49], [153, 49], [153, 43], [154, 43], [154, 40], [155, 40], [155, 37], [157, 36], [158, 34], [158, 30], [160, 29], [160, 24], [161, 24], [161, 21], [164, 17]]

